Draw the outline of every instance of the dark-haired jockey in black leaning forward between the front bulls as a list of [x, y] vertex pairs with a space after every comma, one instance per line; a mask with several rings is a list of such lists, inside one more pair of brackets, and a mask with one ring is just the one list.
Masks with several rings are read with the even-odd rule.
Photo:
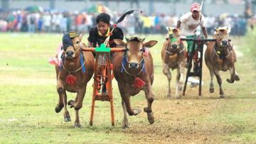
[[[106, 38], [110, 35], [109, 46], [110, 48], [116, 47], [114, 39], [124, 39], [124, 33], [121, 28], [110, 26], [110, 15], [107, 13], [100, 13], [96, 18], [97, 26], [90, 28], [88, 37], [88, 46], [97, 47], [105, 42]], [[111, 33], [112, 28], [114, 31]], [[95, 54], [93, 54], [95, 55]]]

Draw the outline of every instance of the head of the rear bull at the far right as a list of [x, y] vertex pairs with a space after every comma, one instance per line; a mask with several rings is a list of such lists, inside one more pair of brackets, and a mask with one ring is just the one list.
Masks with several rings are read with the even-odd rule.
[[216, 39], [217, 44], [221, 47], [227, 47], [228, 46], [228, 34], [230, 32], [230, 29], [228, 27], [226, 28], [217, 28], [215, 29], [215, 32], [213, 33], [213, 38]]

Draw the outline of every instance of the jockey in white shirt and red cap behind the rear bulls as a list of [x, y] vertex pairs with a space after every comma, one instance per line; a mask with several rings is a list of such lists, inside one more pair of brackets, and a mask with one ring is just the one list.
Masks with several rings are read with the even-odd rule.
[[[194, 38], [196, 28], [201, 26], [203, 35], [205, 38], [208, 38], [208, 34], [205, 27], [205, 18], [200, 10], [200, 4], [194, 3], [191, 5], [191, 11], [181, 16], [178, 20], [177, 28], [181, 28], [181, 37], [185, 38]], [[187, 41], [188, 44], [188, 53], [191, 52], [193, 47], [193, 41]], [[194, 63], [195, 64], [195, 63]], [[196, 67], [195, 67], [196, 66]], [[194, 66], [195, 69], [198, 69], [198, 65]]]

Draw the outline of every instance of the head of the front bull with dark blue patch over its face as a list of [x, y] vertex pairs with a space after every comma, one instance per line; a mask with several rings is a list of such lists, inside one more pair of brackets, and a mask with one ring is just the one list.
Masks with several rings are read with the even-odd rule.
[[63, 50], [65, 52], [65, 57], [68, 59], [72, 59], [78, 57], [80, 42], [82, 40], [82, 35], [70, 31], [68, 33], [64, 33], [63, 35]]

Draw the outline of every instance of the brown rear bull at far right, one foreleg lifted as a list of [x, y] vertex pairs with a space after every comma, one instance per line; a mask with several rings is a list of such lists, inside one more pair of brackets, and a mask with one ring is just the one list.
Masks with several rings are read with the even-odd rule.
[[205, 60], [206, 65], [210, 71], [210, 93], [214, 92], [213, 86], [213, 76], [215, 75], [220, 87], [220, 97], [224, 97], [224, 92], [222, 89], [222, 79], [220, 78], [219, 71], [230, 70], [230, 79], [227, 79], [229, 83], [239, 81], [240, 78], [238, 73], [235, 71], [235, 62], [237, 57], [235, 55], [235, 50], [233, 46], [230, 45], [230, 40], [228, 39], [228, 28], [218, 28], [215, 30], [213, 38], [216, 42], [208, 43]]

